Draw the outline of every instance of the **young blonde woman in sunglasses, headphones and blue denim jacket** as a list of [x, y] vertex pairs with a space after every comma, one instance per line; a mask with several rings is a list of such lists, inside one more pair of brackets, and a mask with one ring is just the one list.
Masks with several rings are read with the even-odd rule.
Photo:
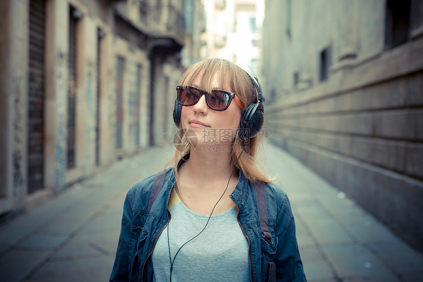
[[110, 281], [305, 281], [289, 200], [256, 167], [260, 85], [222, 59], [180, 84], [173, 167], [129, 190]]

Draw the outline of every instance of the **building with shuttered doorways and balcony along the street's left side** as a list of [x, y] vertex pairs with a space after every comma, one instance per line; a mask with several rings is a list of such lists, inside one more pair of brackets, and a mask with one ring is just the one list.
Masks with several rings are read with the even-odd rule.
[[172, 139], [185, 2], [1, 1], [0, 214]]

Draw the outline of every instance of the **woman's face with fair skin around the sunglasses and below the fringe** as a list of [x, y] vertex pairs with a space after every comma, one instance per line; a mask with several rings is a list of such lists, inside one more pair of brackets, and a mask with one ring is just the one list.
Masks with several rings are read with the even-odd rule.
[[[201, 85], [201, 80], [197, 79], [191, 86], [201, 88]], [[214, 74], [211, 82], [212, 89], [232, 92], [228, 85], [229, 83], [219, 85], [217, 73]], [[183, 106], [181, 112], [181, 126], [187, 133], [187, 140], [194, 145], [188, 132], [195, 133], [195, 136], [193, 136], [193, 138], [197, 139], [195, 143], [198, 142], [199, 145], [203, 146], [210, 145], [210, 149], [214, 148], [215, 150], [224, 150], [232, 146], [240, 121], [241, 109], [233, 99], [228, 109], [218, 112], [207, 106], [206, 97], [202, 95], [197, 104], [189, 107]], [[216, 148], [216, 144], [220, 144], [221, 147]]]

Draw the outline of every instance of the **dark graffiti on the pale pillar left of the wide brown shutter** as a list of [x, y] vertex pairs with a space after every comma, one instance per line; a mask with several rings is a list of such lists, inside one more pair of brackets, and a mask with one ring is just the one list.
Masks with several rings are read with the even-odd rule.
[[13, 197], [23, 197], [25, 183], [24, 172], [23, 172], [23, 135], [24, 135], [24, 109], [22, 101], [22, 89], [23, 85], [22, 77], [13, 78], [13, 90], [14, 90], [14, 101], [13, 101]]

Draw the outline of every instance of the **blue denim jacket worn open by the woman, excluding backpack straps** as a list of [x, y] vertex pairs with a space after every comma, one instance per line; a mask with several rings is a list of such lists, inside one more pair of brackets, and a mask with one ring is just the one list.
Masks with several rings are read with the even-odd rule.
[[[148, 213], [154, 176], [148, 176], [135, 183], [126, 195], [111, 282], [153, 281], [151, 254], [159, 235], [167, 226], [168, 201], [176, 183], [173, 169], [168, 169], [163, 188]], [[272, 245], [261, 235], [254, 185], [242, 172], [230, 196], [239, 208], [238, 221], [249, 244], [251, 281], [265, 281], [266, 266], [273, 260], [276, 266], [276, 281], [305, 282], [288, 197], [276, 185], [265, 184], [265, 189]]]

